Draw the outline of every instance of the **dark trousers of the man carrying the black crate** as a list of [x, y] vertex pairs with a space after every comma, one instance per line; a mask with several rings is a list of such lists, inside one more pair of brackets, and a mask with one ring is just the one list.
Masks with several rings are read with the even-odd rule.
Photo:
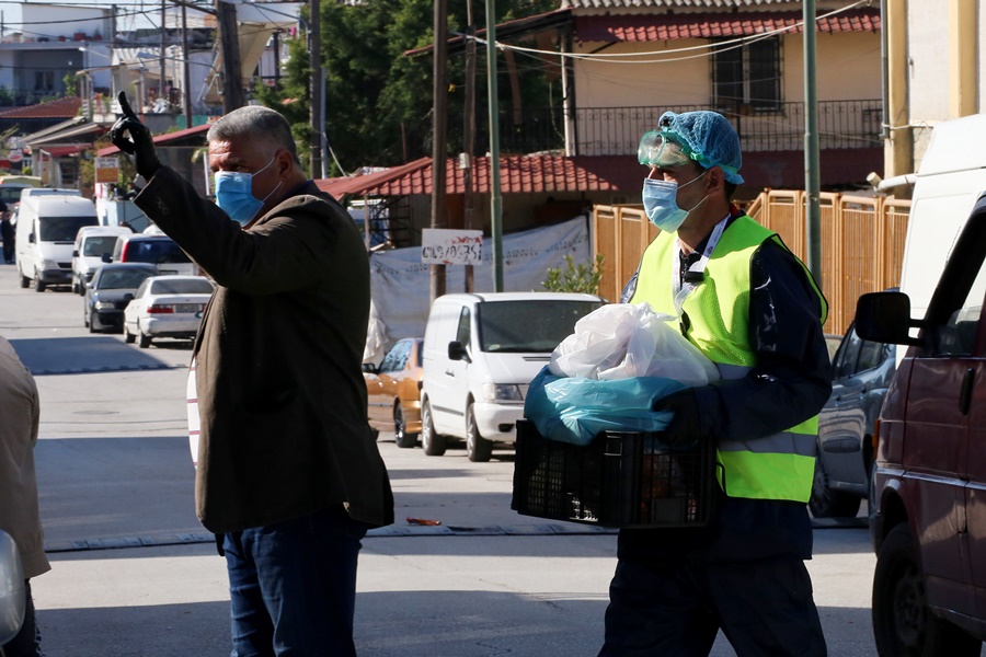
[[599, 657], [707, 656], [719, 630], [738, 657], [824, 657], [804, 562], [622, 558]]

